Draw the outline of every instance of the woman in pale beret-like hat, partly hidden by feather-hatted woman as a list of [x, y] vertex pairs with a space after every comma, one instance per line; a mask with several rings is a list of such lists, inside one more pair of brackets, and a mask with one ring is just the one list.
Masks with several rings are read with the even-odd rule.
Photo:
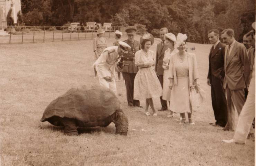
[[[177, 53], [178, 50], [174, 49], [174, 42], [176, 41], [176, 37], [172, 33], [168, 33], [164, 35], [164, 39], [168, 46], [168, 49], [164, 52], [164, 59], [163, 59], [163, 68], [164, 68], [164, 81], [163, 81], [163, 100], [166, 100], [167, 108], [170, 110], [170, 99], [171, 99], [171, 89], [169, 88], [169, 79], [168, 79], [168, 68], [170, 57], [172, 54]], [[174, 113], [170, 110], [168, 114], [168, 118], [174, 116]]]

